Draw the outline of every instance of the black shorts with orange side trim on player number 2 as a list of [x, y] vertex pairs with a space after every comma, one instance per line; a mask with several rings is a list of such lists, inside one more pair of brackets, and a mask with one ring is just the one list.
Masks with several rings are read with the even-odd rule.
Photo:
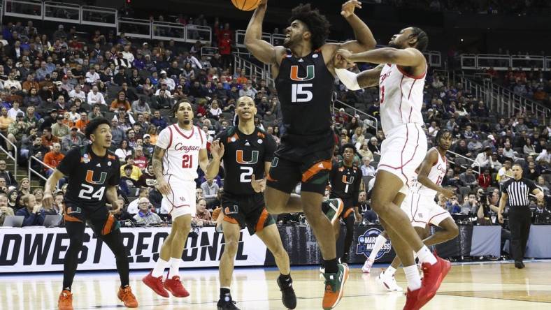
[[221, 204], [224, 221], [237, 224], [240, 228], [247, 227], [250, 235], [275, 224], [273, 216], [266, 211], [262, 193], [234, 195], [224, 191]]

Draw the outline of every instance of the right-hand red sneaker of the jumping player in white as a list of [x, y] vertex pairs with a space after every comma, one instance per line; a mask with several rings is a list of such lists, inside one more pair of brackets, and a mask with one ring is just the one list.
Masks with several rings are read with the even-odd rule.
[[419, 289], [419, 297], [417, 307], [421, 308], [427, 304], [429, 300], [436, 295], [436, 291], [440, 288], [442, 281], [452, 268], [452, 263], [436, 256], [436, 264], [422, 264], [423, 280]]

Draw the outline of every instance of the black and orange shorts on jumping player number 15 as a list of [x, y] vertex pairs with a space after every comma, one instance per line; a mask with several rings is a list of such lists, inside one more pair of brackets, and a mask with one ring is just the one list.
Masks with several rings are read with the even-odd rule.
[[268, 177], [266, 186], [285, 193], [292, 193], [296, 184], [301, 183], [301, 191], [313, 193], [325, 193], [329, 171], [331, 171], [331, 158], [333, 148], [313, 152], [306, 156], [290, 156], [287, 152], [285, 157], [275, 156]]

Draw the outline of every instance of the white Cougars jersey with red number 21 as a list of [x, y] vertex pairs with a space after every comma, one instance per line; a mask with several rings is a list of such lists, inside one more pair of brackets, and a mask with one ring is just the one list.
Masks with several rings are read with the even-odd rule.
[[205, 133], [197, 126], [185, 131], [172, 124], [164, 128], [157, 138], [157, 147], [166, 149], [163, 157], [163, 175], [179, 181], [194, 181], [199, 166], [199, 150], [206, 149]]

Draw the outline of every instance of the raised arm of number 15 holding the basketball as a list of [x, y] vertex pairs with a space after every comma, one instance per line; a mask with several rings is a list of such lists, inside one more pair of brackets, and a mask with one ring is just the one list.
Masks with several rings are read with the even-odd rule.
[[270, 43], [262, 40], [262, 21], [266, 15], [268, 0], [262, 0], [255, 13], [252, 14], [247, 31], [245, 32], [245, 46], [259, 61], [264, 64], [279, 65], [277, 54], [285, 52], [285, 48], [274, 47]]

